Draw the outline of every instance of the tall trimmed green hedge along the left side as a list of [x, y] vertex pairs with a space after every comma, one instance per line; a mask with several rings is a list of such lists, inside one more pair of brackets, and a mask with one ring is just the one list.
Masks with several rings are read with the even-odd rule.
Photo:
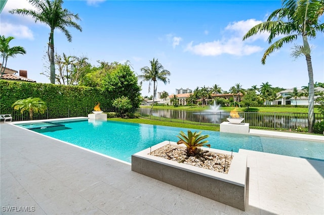
[[53, 116], [57, 116], [55, 112], [64, 115], [67, 110], [89, 110], [91, 113], [98, 102], [101, 108], [107, 107], [100, 88], [0, 80], [1, 114], [14, 114], [12, 104], [28, 97], [44, 100]]

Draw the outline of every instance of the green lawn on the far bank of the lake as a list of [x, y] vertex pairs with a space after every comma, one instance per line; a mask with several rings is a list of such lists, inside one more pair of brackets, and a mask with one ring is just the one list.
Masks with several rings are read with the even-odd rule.
[[[141, 106], [141, 108], [151, 108], [151, 106]], [[153, 106], [154, 110], [185, 110], [185, 111], [205, 111], [209, 109], [209, 106], [170, 106], [170, 105], [157, 105]], [[233, 110], [234, 107], [221, 107], [220, 110], [228, 111], [230, 112]], [[254, 107], [250, 108], [253, 110], [256, 110], [257, 112], [263, 112], [263, 113], [308, 113], [308, 108], [295, 108], [295, 107]], [[237, 108], [238, 112], [244, 112], [246, 108]], [[314, 108], [315, 113], [319, 113], [317, 108]]]

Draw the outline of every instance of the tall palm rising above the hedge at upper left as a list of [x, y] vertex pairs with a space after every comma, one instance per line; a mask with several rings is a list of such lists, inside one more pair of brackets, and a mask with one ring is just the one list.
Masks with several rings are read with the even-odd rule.
[[72, 14], [67, 9], [62, 8], [63, 0], [28, 0], [28, 2], [36, 8], [31, 9], [14, 9], [9, 11], [11, 14], [18, 14], [23, 16], [31, 16], [35, 22], [41, 22], [47, 24], [51, 31], [48, 43], [48, 49], [50, 49], [49, 60], [50, 66], [50, 80], [52, 84], [55, 84], [55, 60], [54, 60], [54, 30], [58, 29], [62, 31], [69, 42], [72, 41], [72, 36], [66, 27], [73, 27], [79, 31], [82, 28], [74, 22], [74, 20], [80, 20], [77, 14]]

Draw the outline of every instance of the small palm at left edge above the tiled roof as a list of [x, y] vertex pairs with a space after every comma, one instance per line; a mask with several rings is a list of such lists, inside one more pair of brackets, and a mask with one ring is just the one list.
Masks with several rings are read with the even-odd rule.
[[0, 36], [0, 51], [1, 51], [1, 57], [3, 58], [1, 69], [0, 69], [0, 73], [1, 73], [0, 78], [2, 78], [2, 75], [5, 74], [7, 61], [9, 57], [15, 58], [16, 55], [18, 54], [24, 55], [26, 53], [26, 50], [21, 46], [14, 46], [14, 47], [9, 46], [9, 42], [14, 38], [15, 37], [12, 36], [9, 36], [7, 38], [5, 37], [5, 35]]

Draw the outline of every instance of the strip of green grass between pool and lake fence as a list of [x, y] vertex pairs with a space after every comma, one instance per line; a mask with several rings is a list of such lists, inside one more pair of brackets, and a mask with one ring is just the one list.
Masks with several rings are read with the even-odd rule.
[[192, 124], [185, 124], [185, 123], [148, 120], [142, 118], [136, 118], [136, 119], [108, 118], [107, 120], [116, 121], [116, 122], [125, 122], [125, 123], [141, 123], [141, 124], [149, 124], [149, 125], [171, 126], [171, 127], [178, 127], [178, 128], [190, 128], [196, 130], [219, 131], [219, 126], [216, 125], [215, 126], [192, 125]]

